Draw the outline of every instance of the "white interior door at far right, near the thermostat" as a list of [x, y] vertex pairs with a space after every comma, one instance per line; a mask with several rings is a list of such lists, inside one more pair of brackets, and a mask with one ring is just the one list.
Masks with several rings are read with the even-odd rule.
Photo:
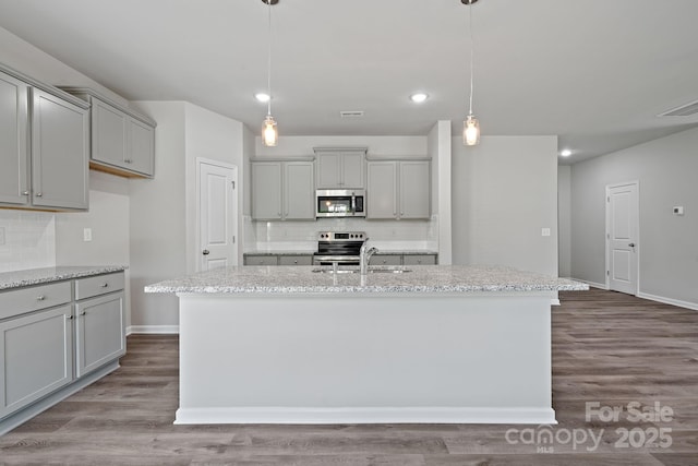
[[606, 285], [637, 295], [639, 251], [638, 183], [606, 187]]

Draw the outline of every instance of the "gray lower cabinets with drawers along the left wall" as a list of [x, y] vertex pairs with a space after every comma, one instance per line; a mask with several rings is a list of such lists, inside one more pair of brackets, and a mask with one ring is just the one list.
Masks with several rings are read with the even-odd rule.
[[119, 272], [0, 292], [0, 427], [125, 353], [123, 284]]

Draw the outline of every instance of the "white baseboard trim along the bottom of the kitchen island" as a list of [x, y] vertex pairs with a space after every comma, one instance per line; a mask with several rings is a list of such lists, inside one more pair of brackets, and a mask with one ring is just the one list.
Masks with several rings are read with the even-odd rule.
[[553, 408], [209, 407], [179, 408], [176, 425], [202, 423], [535, 423], [555, 425]]

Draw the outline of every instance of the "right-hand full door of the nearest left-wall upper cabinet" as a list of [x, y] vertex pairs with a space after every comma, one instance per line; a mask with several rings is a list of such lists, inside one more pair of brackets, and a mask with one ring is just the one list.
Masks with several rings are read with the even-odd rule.
[[32, 88], [32, 203], [87, 208], [88, 115]]

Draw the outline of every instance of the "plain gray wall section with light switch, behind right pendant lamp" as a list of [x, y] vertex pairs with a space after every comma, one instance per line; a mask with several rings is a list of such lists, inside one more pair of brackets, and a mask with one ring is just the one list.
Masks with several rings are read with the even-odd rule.
[[557, 276], [557, 138], [483, 136], [465, 147], [458, 136], [452, 147], [454, 264]]

